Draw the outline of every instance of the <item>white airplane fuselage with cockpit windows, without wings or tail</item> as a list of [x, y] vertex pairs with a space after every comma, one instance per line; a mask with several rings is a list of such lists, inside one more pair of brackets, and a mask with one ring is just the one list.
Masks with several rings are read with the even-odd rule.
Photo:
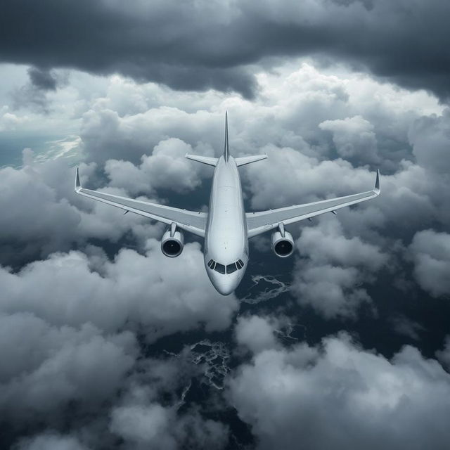
[[221, 156], [214, 169], [205, 231], [205, 267], [219, 293], [236, 289], [248, 264], [248, 237], [238, 167]]

